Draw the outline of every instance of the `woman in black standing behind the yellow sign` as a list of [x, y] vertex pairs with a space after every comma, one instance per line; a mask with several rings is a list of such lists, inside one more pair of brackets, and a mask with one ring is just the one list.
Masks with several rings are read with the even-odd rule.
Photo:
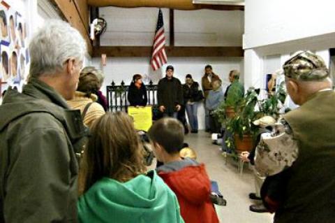
[[133, 81], [128, 89], [128, 101], [131, 106], [147, 106], [147, 87], [142, 82], [142, 75], [133, 75]]

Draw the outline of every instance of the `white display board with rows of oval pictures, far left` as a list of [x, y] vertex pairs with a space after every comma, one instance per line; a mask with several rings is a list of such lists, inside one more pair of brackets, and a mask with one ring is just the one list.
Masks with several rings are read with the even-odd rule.
[[27, 23], [20, 12], [0, 1], [0, 92], [21, 88], [29, 66]]

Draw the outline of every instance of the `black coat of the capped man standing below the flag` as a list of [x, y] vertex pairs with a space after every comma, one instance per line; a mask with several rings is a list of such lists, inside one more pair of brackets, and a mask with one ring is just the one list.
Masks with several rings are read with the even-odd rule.
[[177, 78], [162, 78], [158, 82], [158, 106], [165, 106], [165, 112], [173, 113], [177, 105], [184, 104], [183, 87]]

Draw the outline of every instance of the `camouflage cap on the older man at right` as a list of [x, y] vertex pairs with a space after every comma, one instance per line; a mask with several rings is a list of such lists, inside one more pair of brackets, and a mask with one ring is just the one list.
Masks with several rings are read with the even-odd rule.
[[324, 60], [311, 51], [300, 51], [283, 65], [285, 76], [295, 80], [313, 81], [329, 77]]

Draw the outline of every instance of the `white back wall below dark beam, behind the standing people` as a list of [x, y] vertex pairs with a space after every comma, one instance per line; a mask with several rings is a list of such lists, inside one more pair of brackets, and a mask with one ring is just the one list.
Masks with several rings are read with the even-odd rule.
[[[230, 70], [238, 69], [242, 71], [243, 75], [244, 62], [242, 57], [169, 57], [168, 61], [168, 64], [174, 66], [174, 76], [183, 83], [185, 82], [185, 75], [191, 73], [193, 79], [201, 85], [201, 78], [206, 64], [211, 64], [214, 73], [218, 74], [223, 80], [223, 90], [228, 85], [228, 73]], [[101, 68], [101, 59], [93, 58], [92, 64], [97, 68]], [[102, 89], [105, 92], [105, 86], [110, 85], [113, 80], [117, 85], [122, 80], [128, 85], [135, 73], [145, 75], [147, 78], [144, 78], [144, 82], [147, 83], [151, 79], [156, 84], [165, 74], [165, 67], [166, 65], [160, 71], [152, 72], [149, 66], [149, 57], [107, 57], [107, 66], [102, 67], [105, 73], [105, 82]], [[198, 109], [198, 117], [199, 128], [204, 129], [204, 108], [202, 104]]]

